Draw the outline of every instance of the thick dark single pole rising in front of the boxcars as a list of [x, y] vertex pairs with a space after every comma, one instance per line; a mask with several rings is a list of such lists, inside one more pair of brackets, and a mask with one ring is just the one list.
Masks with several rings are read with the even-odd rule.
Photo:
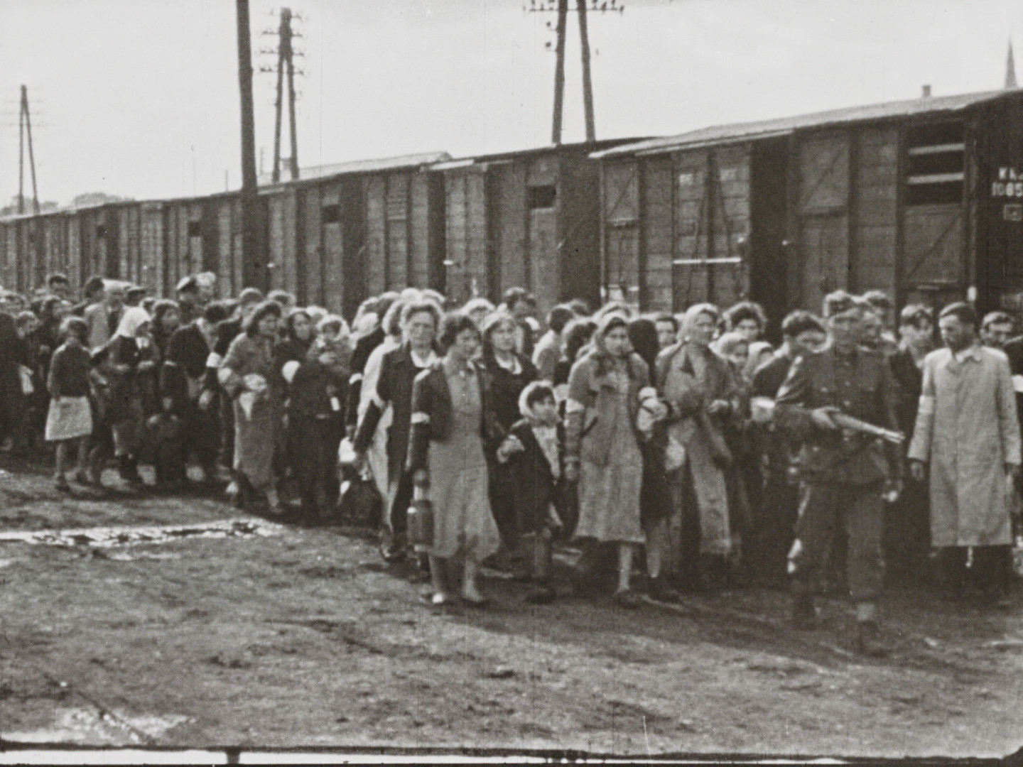
[[238, 89], [241, 95], [241, 281], [262, 284], [262, 216], [256, 180], [256, 123], [253, 107], [253, 52], [249, 0], [235, 0], [238, 35]]

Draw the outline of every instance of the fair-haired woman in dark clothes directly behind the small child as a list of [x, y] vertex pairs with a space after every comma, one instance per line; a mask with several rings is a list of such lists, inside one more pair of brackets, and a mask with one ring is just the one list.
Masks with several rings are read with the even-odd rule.
[[[516, 351], [518, 323], [507, 312], [494, 312], [483, 325], [483, 366], [487, 387], [487, 407], [495, 427], [507, 435], [521, 418], [519, 395], [536, 380], [536, 366]], [[509, 548], [515, 545], [514, 492], [511, 476], [505, 465], [491, 462], [490, 507], [494, 511], [501, 539]]]

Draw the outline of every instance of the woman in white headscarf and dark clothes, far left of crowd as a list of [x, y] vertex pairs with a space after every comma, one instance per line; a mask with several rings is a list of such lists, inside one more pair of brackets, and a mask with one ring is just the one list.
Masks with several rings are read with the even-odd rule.
[[117, 332], [107, 342], [114, 376], [106, 418], [114, 435], [114, 454], [121, 479], [132, 484], [142, 482], [138, 452], [142, 446], [145, 406], [152, 408], [154, 404], [150, 401], [149, 385], [157, 372], [157, 350], [150, 329], [148, 312], [141, 307], [126, 307]]

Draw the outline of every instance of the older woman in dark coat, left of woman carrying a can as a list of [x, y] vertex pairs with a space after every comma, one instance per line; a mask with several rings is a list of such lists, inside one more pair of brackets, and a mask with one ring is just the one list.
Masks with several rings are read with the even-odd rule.
[[381, 360], [376, 387], [352, 440], [360, 462], [364, 461], [381, 418], [391, 410], [387, 437], [389, 512], [381, 531], [381, 555], [387, 561], [397, 561], [407, 553], [405, 532], [412, 501], [412, 477], [405, 470], [405, 459], [412, 417], [412, 382], [438, 361], [434, 342], [440, 310], [430, 301], [410, 301], [402, 309], [401, 324], [406, 341]]

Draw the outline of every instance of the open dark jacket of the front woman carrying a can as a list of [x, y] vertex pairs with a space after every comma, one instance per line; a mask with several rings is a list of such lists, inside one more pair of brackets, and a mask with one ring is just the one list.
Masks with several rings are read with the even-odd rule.
[[[486, 376], [478, 366], [470, 364], [480, 387], [480, 437], [483, 440], [483, 450], [490, 458], [497, 449], [496, 443], [501, 439], [501, 432], [494, 422], [490, 409]], [[412, 390], [411, 420], [414, 422], [411, 423], [407, 469], [415, 471], [427, 468], [431, 441], [445, 442], [451, 428], [451, 389], [443, 363], [438, 363], [416, 376]]]

